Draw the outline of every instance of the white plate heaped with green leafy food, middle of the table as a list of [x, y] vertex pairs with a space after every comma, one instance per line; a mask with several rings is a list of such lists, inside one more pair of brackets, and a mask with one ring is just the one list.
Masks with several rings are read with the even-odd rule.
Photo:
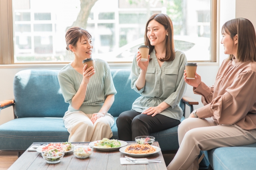
[[99, 150], [115, 150], [127, 145], [125, 141], [119, 141], [117, 139], [107, 139], [103, 138], [101, 141], [94, 141], [89, 143], [89, 146], [92, 146]]

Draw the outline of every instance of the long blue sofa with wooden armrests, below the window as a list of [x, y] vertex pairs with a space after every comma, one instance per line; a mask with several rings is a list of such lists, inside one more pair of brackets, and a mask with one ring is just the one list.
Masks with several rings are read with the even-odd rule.
[[[22, 151], [33, 142], [66, 142], [69, 133], [64, 127], [62, 117], [68, 109], [64, 102], [58, 82], [58, 70], [22, 70], [14, 77], [14, 98], [0, 102], [0, 110], [14, 106], [14, 118], [0, 125], [0, 150]], [[130, 70], [111, 70], [117, 90], [110, 110], [115, 122], [123, 111], [130, 110], [132, 103], [140, 96], [131, 89]], [[184, 97], [180, 107], [185, 104], [193, 110], [198, 102]], [[190, 111], [191, 111], [190, 110]], [[182, 120], [185, 118], [182, 117]], [[116, 123], [112, 126], [113, 137], [118, 139]], [[152, 133], [162, 151], [177, 150], [178, 126]]]

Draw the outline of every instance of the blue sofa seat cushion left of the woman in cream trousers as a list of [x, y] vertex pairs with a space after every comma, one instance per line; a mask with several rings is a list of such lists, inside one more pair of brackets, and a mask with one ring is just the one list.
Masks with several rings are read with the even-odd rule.
[[62, 118], [18, 118], [0, 126], [1, 150], [26, 150], [33, 142], [66, 142]]

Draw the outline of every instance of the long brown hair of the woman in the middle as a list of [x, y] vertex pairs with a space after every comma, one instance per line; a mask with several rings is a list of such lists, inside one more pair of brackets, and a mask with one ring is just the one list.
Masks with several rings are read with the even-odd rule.
[[150, 41], [147, 36], [148, 32], [148, 23], [152, 20], [157, 21], [164, 26], [164, 29], [168, 31], [168, 36], [166, 37], [166, 53], [163, 59], [160, 61], [173, 61], [175, 59], [174, 51], [174, 39], [173, 39], [173, 25], [172, 20], [166, 14], [154, 14], [152, 15], [146, 23], [146, 30], [144, 35], [144, 44], [149, 47], [149, 54], [154, 50], [154, 46], [150, 44]]

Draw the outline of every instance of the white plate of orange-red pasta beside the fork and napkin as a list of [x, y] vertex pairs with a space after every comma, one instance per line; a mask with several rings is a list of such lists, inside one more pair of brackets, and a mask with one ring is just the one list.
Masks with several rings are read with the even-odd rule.
[[157, 153], [160, 150], [161, 149], [159, 147], [156, 147], [154, 145], [148, 145], [148, 144], [129, 145], [119, 149], [120, 152], [124, 154], [129, 154], [132, 156], [148, 156], [150, 154]]

